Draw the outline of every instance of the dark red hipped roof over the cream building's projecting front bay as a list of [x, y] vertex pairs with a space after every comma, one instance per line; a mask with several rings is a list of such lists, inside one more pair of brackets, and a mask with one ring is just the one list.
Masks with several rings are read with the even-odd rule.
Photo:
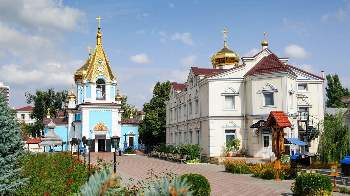
[[289, 71], [290, 73], [294, 73], [291, 69], [288, 68], [288, 66], [282, 63], [282, 61], [275, 54], [272, 53], [271, 55], [262, 58], [256, 65], [253, 66], [251, 70], [249, 70], [244, 75], [244, 77], [249, 75], [274, 73], [281, 71]]

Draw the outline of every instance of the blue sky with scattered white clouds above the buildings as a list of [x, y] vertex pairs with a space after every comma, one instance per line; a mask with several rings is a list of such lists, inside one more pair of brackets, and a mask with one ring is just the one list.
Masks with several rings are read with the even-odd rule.
[[119, 92], [138, 110], [157, 81], [184, 83], [191, 66], [212, 68], [224, 28], [226, 45], [240, 57], [261, 51], [266, 32], [268, 49], [289, 57], [287, 64], [318, 76], [337, 73], [350, 88], [349, 12], [350, 0], [1, 0], [0, 82], [10, 86], [15, 109], [28, 105], [27, 91], [69, 90], [86, 48], [96, 46], [100, 16]]

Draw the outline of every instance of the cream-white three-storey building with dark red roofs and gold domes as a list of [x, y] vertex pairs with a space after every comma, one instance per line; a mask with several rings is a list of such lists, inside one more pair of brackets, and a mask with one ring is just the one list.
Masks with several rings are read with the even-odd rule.
[[224, 156], [226, 140], [238, 138], [248, 155], [273, 157], [269, 128], [253, 125], [266, 121], [270, 111], [284, 111], [293, 125], [285, 138], [298, 138], [317, 152], [324, 78], [288, 65], [265, 38], [261, 45], [258, 54], [239, 58], [224, 40], [212, 68], [192, 67], [186, 82], [172, 83], [165, 102], [167, 143], [200, 144], [202, 156], [211, 157]]

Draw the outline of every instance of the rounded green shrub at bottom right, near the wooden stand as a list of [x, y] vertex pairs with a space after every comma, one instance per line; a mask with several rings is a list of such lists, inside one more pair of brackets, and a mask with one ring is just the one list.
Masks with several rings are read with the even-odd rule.
[[295, 180], [293, 194], [300, 196], [313, 196], [330, 194], [332, 181], [322, 174], [308, 173], [298, 176]]

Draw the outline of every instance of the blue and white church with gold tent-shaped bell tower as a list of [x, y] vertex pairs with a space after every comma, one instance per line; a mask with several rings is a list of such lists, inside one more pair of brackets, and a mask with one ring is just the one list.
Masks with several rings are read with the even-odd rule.
[[[63, 141], [71, 141], [72, 138], [82, 140], [85, 136], [86, 139], [92, 139], [91, 152], [111, 152], [113, 149], [109, 138], [114, 135], [121, 137], [119, 148], [123, 147], [125, 141], [127, 146], [137, 146], [139, 124], [132, 114], [130, 118], [121, 118], [124, 112], [121, 108], [122, 97], [119, 89], [116, 94], [117, 79], [102, 47], [100, 29], [98, 27], [97, 43], [92, 56], [90, 54], [92, 48], [89, 46], [87, 48], [89, 58], [75, 71], [77, 91], [75, 95], [72, 85], [71, 93], [66, 100], [64, 118], [50, 118], [48, 112], [47, 118], [43, 119], [43, 125], [47, 134], [48, 124], [52, 119], [56, 124], [54, 131], [63, 138]], [[46, 147], [46, 150], [49, 149]], [[54, 148], [54, 151], [60, 150], [72, 150], [71, 145], [65, 144]]]

